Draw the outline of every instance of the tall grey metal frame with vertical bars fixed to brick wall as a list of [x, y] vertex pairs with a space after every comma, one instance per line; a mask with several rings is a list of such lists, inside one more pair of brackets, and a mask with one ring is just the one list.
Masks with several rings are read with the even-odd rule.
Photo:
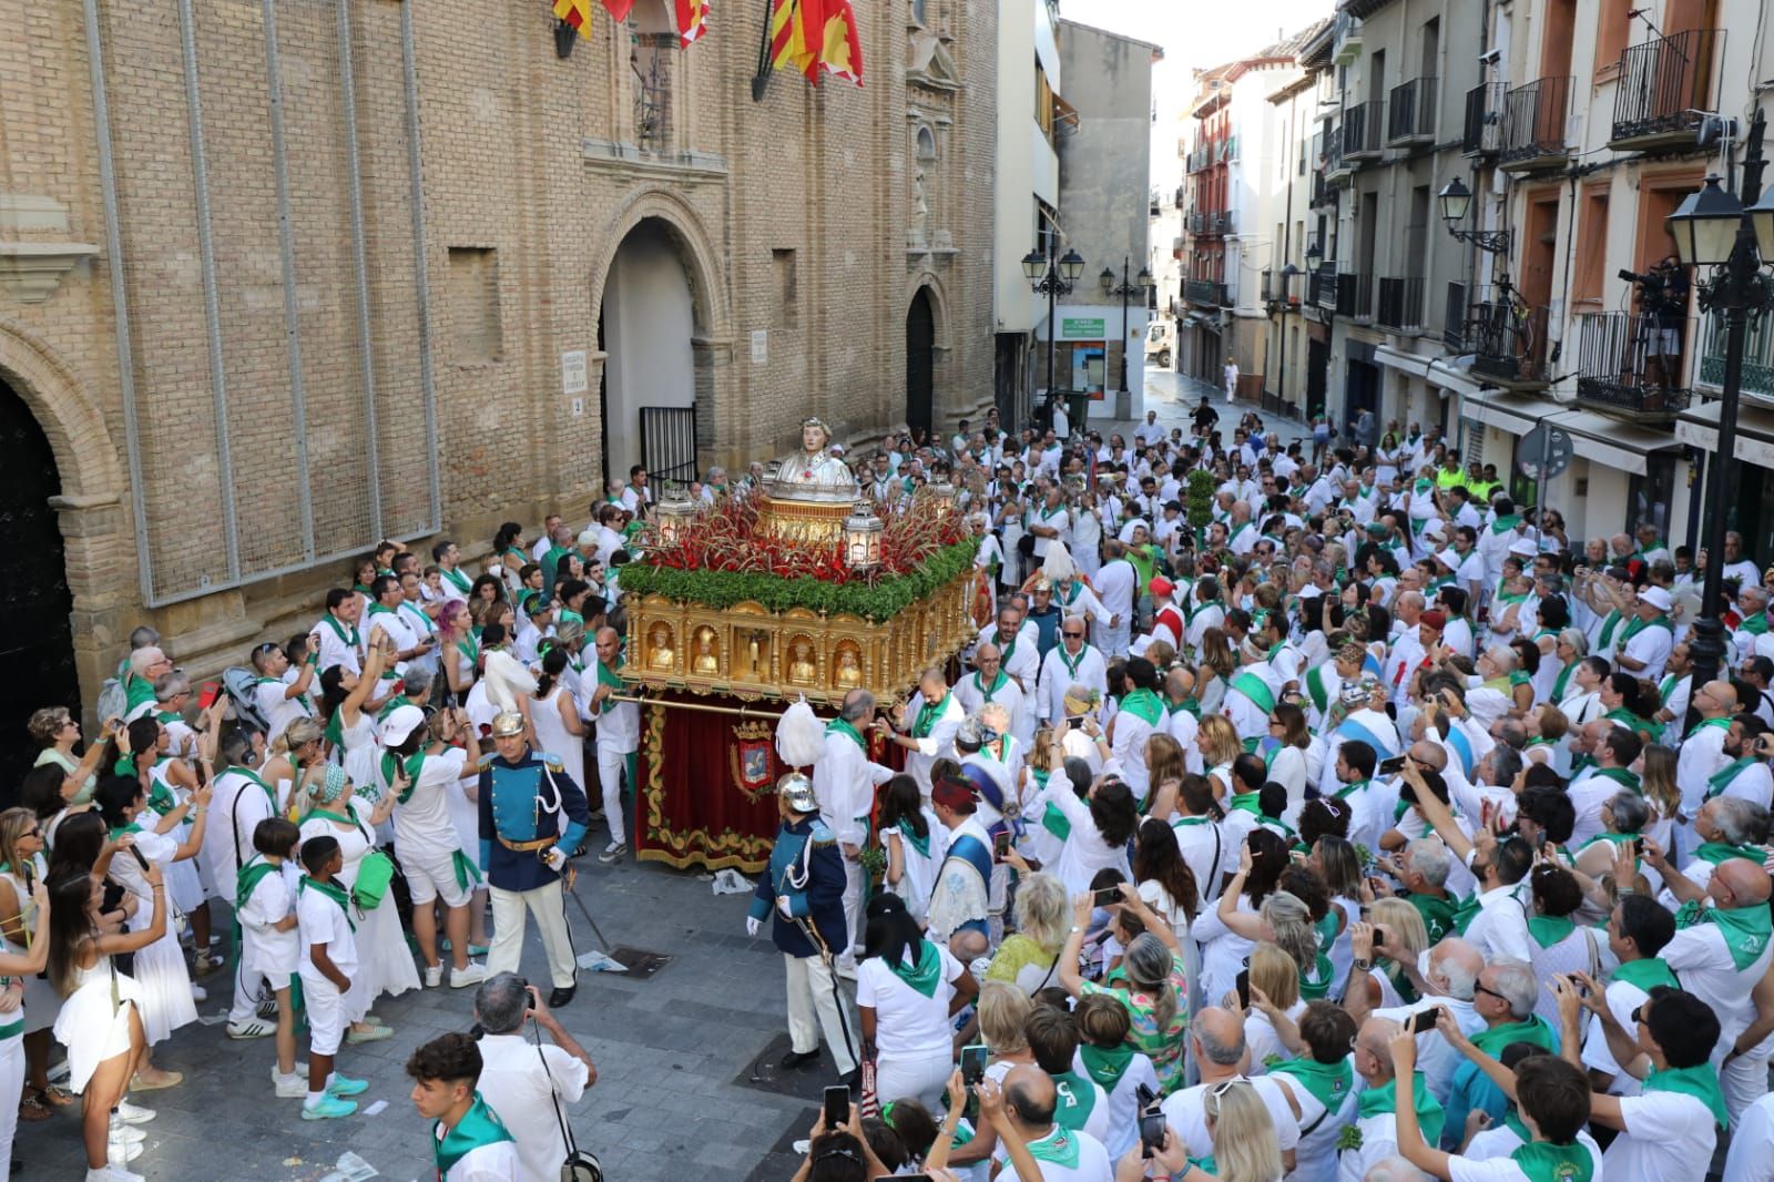
[[145, 602], [440, 529], [412, 5], [83, 7]]

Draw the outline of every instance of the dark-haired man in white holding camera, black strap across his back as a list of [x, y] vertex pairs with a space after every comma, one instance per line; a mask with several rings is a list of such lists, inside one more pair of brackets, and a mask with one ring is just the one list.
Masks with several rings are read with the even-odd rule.
[[[506, 1122], [518, 1145], [523, 1178], [561, 1175], [568, 1145], [561, 1127], [566, 1107], [598, 1083], [598, 1067], [573, 1035], [543, 1005], [541, 990], [516, 973], [500, 973], [481, 983], [474, 996], [474, 1019], [481, 1035], [481, 1099]], [[553, 1045], [523, 1036], [523, 1022], [536, 1019]]]

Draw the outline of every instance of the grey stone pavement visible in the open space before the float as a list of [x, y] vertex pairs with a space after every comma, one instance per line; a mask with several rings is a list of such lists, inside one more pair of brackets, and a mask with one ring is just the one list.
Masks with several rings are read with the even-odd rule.
[[[596, 839], [589, 845], [601, 848]], [[672, 960], [651, 980], [580, 973], [578, 996], [559, 1012], [598, 1065], [596, 1086], [568, 1116], [580, 1145], [600, 1155], [612, 1182], [788, 1178], [798, 1164], [788, 1145], [812, 1125], [832, 1067], [825, 1061], [823, 1070], [750, 1083], [759, 1061], [773, 1077], [775, 1058], [788, 1049], [782, 960], [768, 939], [745, 935], [750, 896], [717, 896], [697, 873], [653, 863], [582, 863], [578, 896], [610, 944]], [[222, 905], [213, 907], [216, 930], [227, 930]], [[587, 951], [594, 939], [585, 918], [571, 903], [568, 916], [578, 950]], [[523, 971], [538, 981], [548, 976], [534, 928]], [[199, 1013], [224, 1012], [227, 976], [216, 973], [204, 983], [211, 996]], [[339, 1072], [367, 1079], [369, 1091], [358, 1097], [357, 1116], [328, 1122], [303, 1122], [302, 1100], [271, 1095], [270, 1038], [231, 1042], [220, 1024], [188, 1026], [154, 1051], [154, 1063], [184, 1072], [184, 1083], [131, 1097], [160, 1115], [142, 1125], [145, 1152], [130, 1168], [179, 1182], [316, 1182], [349, 1150], [385, 1178], [433, 1178], [428, 1129], [408, 1100], [403, 1065], [422, 1042], [467, 1029], [472, 1003], [472, 989], [447, 987], [381, 999], [376, 1013], [394, 1036], [341, 1049]], [[364, 1115], [376, 1102], [387, 1107]], [[18, 1177], [82, 1177], [78, 1111], [20, 1125], [14, 1157], [25, 1168]], [[770, 1155], [773, 1147], [782, 1152]]]

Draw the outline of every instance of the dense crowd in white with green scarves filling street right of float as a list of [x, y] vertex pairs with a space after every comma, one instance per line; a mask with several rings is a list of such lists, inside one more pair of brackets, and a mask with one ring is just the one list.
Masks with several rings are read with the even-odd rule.
[[1774, 1177], [1774, 571], [1694, 683], [1705, 552], [1375, 437], [883, 456], [990, 607], [779, 784], [782, 1067], [857, 1097], [800, 1178]]

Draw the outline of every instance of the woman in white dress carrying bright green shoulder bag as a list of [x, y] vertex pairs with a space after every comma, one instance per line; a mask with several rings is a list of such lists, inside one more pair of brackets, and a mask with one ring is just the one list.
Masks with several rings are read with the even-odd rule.
[[[397, 772], [399, 776], [399, 772]], [[399, 781], [397, 781], [399, 783]], [[344, 870], [337, 880], [346, 891], [357, 887], [357, 871], [364, 857], [376, 848], [376, 829], [394, 815], [394, 800], [399, 792], [389, 792], [374, 806], [351, 793], [349, 777], [335, 767], [326, 768], [326, 779], [310, 788], [314, 808], [302, 820], [302, 839], [328, 834], [339, 839], [344, 854]], [[353, 907], [357, 912], [357, 948], [362, 964], [362, 990], [357, 981], [346, 1001], [346, 1015], [351, 1028], [346, 1042], [374, 1042], [389, 1036], [389, 1028], [369, 1013], [369, 1008], [381, 994], [404, 994], [419, 989], [419, 969], [413, 953], [401, 930], [401, 914], [394, 907], [394, 891], [385, 891], [381, 900], [369, 910]]]

